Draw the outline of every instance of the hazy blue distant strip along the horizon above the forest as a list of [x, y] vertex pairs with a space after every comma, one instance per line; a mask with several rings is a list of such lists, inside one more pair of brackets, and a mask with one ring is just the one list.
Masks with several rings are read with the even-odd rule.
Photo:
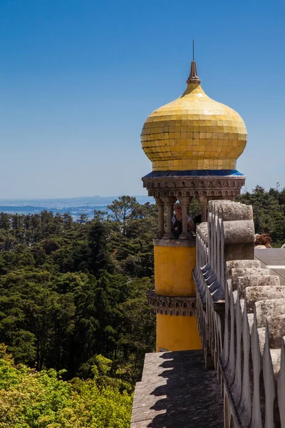
[[[63, 199], [0, 199], [0, 212], [9, 214], [37, 214], [42, 210], [53, 213], [70, 213], [73, 218], [80, 214], [88, 214], [93, 218], [94, 210], [106, 210], [113, 200], [119, 196], [87, 196]], [[155, 203], [148, 196], [135, 196], [138, 203]]]

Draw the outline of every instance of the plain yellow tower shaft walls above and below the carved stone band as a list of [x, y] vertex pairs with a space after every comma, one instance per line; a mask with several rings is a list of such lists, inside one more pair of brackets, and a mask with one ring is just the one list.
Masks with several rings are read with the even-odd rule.
[[[156, 241], [157, 242], [157, 241]], [[170, 297], [195, 297], [192, 270], [196, 263], [196, 248], [190, 241], [160, 241], [155, 245], [155, 292]], [[158, 242], [157, 242], [158, 243]], [[183, 313], [181, 305], [168, 310], [173, 315], [157, 313], [157, 352], [199, 350], [201, 340], [195, 316]]]

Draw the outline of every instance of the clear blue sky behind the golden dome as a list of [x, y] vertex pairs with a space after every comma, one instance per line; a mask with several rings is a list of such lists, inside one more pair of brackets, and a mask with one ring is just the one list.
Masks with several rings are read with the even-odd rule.
[[244, 118], [247, 188], [285, 186], [283, 1], [0, 0], [0, 198], [142, 195], [145, 118], [202, 87]]

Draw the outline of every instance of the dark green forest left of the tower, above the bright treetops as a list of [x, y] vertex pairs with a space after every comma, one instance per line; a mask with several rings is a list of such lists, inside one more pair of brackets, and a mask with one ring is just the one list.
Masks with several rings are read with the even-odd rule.
[[[79, 222], [46, 210], [0, 214], [0, 342], [16, 363], [87, 378], [103, 355], [122, 382], [139, 379], [143, 353], [155, 343], [145, 292], [153, 287], [157, 210], [123, 196], [110, 213], [95, 213], [94, 220], [81, 215]], [[130, 330], [124, 309], [135, 300], [138, 327], [152, 329], [140, 347], [132, 335], [142, 331]], [[133, 375], [115, 375], [129, 358]]]

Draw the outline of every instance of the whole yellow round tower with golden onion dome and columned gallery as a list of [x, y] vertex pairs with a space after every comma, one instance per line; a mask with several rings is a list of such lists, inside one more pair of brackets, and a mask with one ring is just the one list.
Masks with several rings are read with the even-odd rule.
[[[155, 290], [148, 301], [157, 314], [157, 352], [201, 348], [195, 318], [195, 237], [187, 230], [188, 207], [197, 198], [202, 222], [212, 199], [234, 200], [245, 176], [236, 170], [247, 143], [239, 114], [212, 100], [200, 86], [195, 61], [185, 92], [157, 108], [145, 121], [141, 142], [152, 161], [142, 178], [155, 198], [159, 220], [155, 250]], [[182, 233], [172, 234], [173, 205], [182, 207]], [[166, 230], [165, 230], [166, 209]]]

